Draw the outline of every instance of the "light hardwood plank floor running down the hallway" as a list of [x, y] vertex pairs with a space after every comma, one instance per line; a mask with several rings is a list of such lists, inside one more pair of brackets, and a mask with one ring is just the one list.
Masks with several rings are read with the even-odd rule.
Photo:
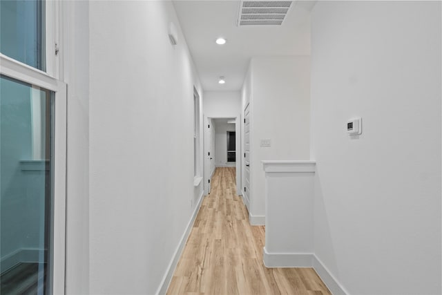
[[314, 269], [265, 267], [265, 227], [249, 225], [235, 180], [216, 169], [167, 294], [331, 294]]

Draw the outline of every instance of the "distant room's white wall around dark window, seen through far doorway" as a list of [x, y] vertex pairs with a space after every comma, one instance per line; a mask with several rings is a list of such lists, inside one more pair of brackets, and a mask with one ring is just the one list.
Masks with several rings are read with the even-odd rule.
[[227, 120], [215, 121], [215, 166], [236, 166], [236, 162], [227, 162], [227, 131], [235, 131], [236, 124], [229, 124]]

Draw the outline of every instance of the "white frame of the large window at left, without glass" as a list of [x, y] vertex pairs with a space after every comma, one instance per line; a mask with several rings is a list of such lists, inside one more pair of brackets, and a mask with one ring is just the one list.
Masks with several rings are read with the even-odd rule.
[[45, 88], [55, 93], [54, 103], [54, 178], [52, 216], [52, 285], [50, 294], [65, 294], [66, 264], [66, 106], [67, 87], [60, 81], [61, 64], [55, 56], [55, 40], [59, 36], [60, 5], [58, 1], [46, 1], [46, 72], [23, 64], [0, 53], [0, 73], [8, 77]]

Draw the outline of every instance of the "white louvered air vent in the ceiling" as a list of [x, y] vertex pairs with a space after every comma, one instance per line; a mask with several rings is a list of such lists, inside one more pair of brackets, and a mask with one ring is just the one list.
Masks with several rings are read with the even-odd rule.
[[293, 1], [240, 1], [238, 26], [280, 26]]

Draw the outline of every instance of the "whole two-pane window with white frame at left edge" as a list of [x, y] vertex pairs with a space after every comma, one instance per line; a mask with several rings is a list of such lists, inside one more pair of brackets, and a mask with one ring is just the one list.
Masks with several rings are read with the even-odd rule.
[[46, 50], [55, 3], [0, 1], [2, 294], [64, 294], [66, 84]]

